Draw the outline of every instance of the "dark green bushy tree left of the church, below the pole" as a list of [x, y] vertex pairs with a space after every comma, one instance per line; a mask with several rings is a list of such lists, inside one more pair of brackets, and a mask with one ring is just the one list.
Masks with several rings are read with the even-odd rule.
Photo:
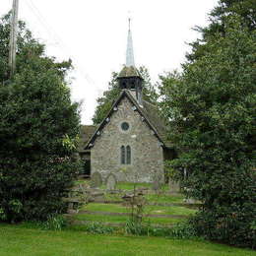
[[47, 57], [20, 22], [17, 72], [8, 80], [8, 21], [0, 20], [0, 219], [45, 220], [65, 210], [61, 198], [79, 168], [78, 104], [65, 79], [71, 61]]

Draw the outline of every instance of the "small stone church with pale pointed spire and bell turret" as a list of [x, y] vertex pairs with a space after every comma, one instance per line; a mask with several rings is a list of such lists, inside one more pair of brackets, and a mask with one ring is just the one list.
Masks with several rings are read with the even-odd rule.
[[126, 64], [118, 75], [120, 95], [98, 126], [83, 126], [80, 156], [88, 174], [112, 173], [118, 181], [164, 182], [164, 160], [174, 152], [157, 106], [144, 100], [143, 79], [135, 67], [131, 30]]

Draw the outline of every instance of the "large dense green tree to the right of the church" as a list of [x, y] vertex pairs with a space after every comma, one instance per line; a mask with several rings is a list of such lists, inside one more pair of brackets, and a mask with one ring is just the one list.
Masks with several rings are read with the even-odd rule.
[[173, 75], [162, 80], [167, 90], [161, 101], [179, 152], [171, 168], [186, 193], [203, 202], [191, 221], [197, 232], [251, 247], [256, 245], [255, 39], [243, 17], [225, 17], [224, 36], [216, 32], [202, 54], [192, 52], [195, 58], [183, 65], [178, 80]]

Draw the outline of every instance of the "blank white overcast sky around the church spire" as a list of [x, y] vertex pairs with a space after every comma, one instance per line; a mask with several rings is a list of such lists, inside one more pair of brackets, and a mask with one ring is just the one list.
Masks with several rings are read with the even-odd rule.
[[[13, 0], [0, 0], [0, 16]], [[206, 26], [218, 0], [20, 0], [19, 19], [58, 61], [71, 58], [73, 101], [81, 102], [83, 124], [92, 124], [96, 98], [107, 90], [112, 72], [125, 63], [128, 18], [135, 65], [159, 75], [180, 69], [195, 26]]]

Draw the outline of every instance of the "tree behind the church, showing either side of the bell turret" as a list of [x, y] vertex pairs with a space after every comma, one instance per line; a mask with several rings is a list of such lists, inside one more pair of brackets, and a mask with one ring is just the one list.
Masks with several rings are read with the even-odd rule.
[[[152, 85], [151, 77], [149, 71], [146, 67], [142, 66], [139, 68], [139, 72], [144, 79], [143, 83], [143, 99], [150, 101], [151, 103], [157, 102], [158, 94], [155, 87]], [[113, 72], [111, 81], [108, 83], [108, 90], [103, 93], [103, 96], [100, 96], [96, 99], [97, 106], [96, 112], [93, 117], [94, 124], [99, 124], [107, 112], [110, 110], [113, 102], [119, 96], [121, 90], [118, 87], [117, 83], [118, 73]]]

